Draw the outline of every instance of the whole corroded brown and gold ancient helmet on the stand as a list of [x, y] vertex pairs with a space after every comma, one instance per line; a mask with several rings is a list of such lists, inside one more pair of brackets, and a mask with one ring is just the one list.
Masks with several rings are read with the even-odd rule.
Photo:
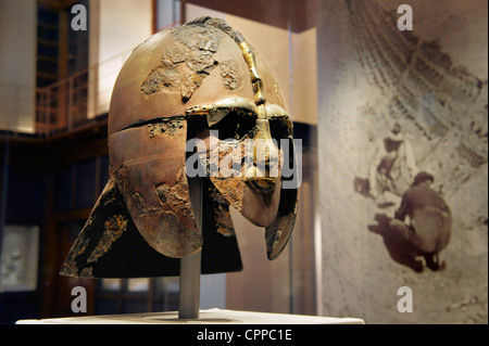
[[[271, 72], [224, 21], [198, 18], [155, 34], [134, 50], [114, 86], [109, 155], [110, 188], [93, 208], [62, 274], [80, 275], [82, 267], [89, 267], [88, 254], [79, 258], [90, 248], [83, 244], [95, 242], [90, 234], [99, 234], [99, 243], [110, 239], [113, 228], [91, 230], [96, 219], [109, 218], [102, 209], [116, 198], [108, 198], [109, 193], [124, 200], [126, 228], [137, 229], [159, 254], [172, 259], [218, 251], [205, 246], [209, 235], [200, 234], [196, 225], [189, 193], [189, 179], [196, 176], [205, 181], [211, 213], [204, 218], [213, 220], [218, 235], [212, 235], [215, 241], [209, 244], [228, 246], [227, 252], [233, 248], [239, 259], [229, 206], [266, 228], [269, 259], [287, 244], [298, 192], [297, 185], [284, 189], [281, 174], [284, 167], [296, 167], [291, 121]], [[116, 243], [117, 238], [112, 239], [104, 253]], [[240, 267], [238, 261], [235, 267]], [[156, 271], [174, 274], [164, 268]], [[88, 277], [103, 272], [85, 270]]]

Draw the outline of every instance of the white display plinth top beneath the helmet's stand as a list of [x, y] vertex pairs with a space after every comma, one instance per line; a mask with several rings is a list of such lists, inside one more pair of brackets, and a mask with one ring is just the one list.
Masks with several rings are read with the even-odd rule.
[[101, 315], [20, 320], [16, 324], [364, 324], [358, 318], [331, 318], [289, 313], [252, 312], [223, 309], [200, 310], [195, 320], [178, 319], [178, 311]]

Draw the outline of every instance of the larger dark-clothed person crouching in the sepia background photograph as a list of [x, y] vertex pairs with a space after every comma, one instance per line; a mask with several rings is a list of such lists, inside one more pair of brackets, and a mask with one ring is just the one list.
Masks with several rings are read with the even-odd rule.
[[[417, 255], [425, 258], [429, 269], [442, 270], [444, 262], [439, 253], [450, 241], [452, 216], [443, 197], [431, 189], [434, 182], [434, 176], [426, 171], [416, 175], [389, 228], [417, 249]], [[410, 223], [404, 222], [406, 217]]]

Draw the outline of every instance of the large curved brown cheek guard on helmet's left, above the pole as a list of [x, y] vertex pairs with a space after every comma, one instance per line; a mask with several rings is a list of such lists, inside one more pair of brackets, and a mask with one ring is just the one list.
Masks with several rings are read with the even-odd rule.
[[185, 172], [186, 140], [186, 121], [171, 119], [109, 141], [113, 176], [134, 223], [151, 247], [173, 258], [202, 247]]

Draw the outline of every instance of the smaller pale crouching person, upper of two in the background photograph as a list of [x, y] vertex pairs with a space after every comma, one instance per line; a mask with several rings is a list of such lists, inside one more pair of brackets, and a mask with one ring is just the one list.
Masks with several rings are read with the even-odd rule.
[[387, 204], [385, 192], [398, 196], [410, 188], [417, 171], [411, 143], [404, 138], [401, 126], [396, 123], [389, 134], [375, 150], [368, 168], [369, 194], [378, 206]]

